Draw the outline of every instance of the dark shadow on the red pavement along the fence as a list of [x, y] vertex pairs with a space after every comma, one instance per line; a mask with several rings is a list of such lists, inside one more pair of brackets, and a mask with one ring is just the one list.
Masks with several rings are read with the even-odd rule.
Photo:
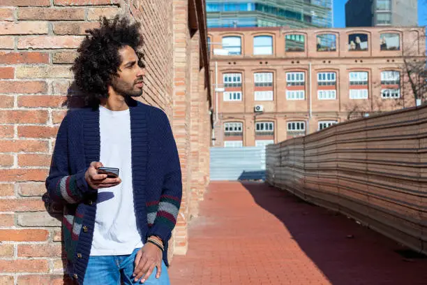
[[410, 251], [393, 240], [267, 183], [241, 184], [283, 223], [332, 284], [427, 284], [424, 256], [407, 255]]

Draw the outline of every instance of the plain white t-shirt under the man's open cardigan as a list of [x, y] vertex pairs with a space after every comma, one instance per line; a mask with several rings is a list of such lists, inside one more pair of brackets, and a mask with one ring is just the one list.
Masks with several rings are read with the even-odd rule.
[[98, 189], [91, 256], [131, 254], [142, 247], [133, 207], [130, 113], [99, 108], [100, 162], [119, 168], [121, 184]]

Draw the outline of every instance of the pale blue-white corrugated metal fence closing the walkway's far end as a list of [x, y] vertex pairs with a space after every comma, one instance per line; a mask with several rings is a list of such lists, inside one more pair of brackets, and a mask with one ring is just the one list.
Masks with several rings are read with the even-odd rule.
[[211, 147], [210, 180], [264, 180], [265, 147]]

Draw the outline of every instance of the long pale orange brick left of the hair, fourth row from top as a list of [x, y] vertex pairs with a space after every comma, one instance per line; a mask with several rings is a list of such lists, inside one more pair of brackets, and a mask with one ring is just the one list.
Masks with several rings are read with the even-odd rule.
[[80, 45], [82, 39], [83, 36], [27, 36], [18, 38], [17, 48], [77, 48]]

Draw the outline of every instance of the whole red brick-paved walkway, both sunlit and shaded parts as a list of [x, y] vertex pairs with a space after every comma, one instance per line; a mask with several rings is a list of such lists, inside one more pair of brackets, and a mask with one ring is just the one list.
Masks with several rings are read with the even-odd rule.
[[213, 182], [172, 285], [427, 284], [427, 258], [267, 184]]

